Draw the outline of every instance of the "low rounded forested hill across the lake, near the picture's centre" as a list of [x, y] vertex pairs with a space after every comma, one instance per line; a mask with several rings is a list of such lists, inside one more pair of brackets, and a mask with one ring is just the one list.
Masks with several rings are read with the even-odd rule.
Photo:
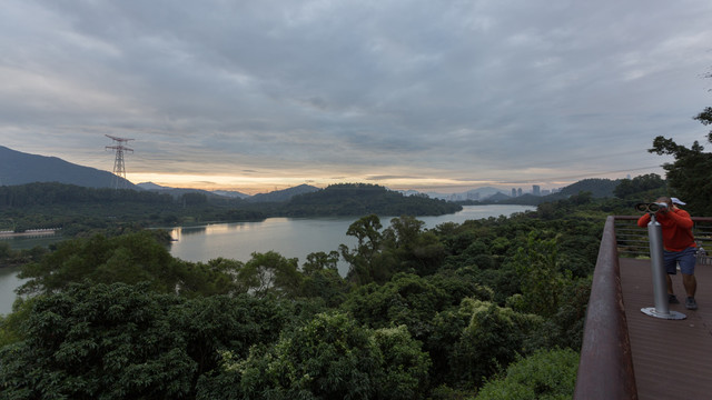
[[427, 196], [404, 196], [377, 184], [340, 183], [295, 196], [283, 208], [288, 217], [307, 216], [439, 216], [462, 206]]

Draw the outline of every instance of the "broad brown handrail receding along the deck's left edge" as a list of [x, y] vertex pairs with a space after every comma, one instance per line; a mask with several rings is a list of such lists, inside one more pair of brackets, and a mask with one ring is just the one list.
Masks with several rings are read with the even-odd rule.
[[633, 357], [623, 308], [615, 218], [603, 228], [574, 399], [637, 399]]

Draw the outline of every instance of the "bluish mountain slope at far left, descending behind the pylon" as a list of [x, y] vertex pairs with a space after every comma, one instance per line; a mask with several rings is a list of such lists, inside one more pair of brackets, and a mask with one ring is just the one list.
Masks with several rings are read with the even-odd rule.
[[[112, 188], [116, 176], [108, 171], [0, 146], [0, 186], [59, 182], [88, 188]], [[123, 181], [125, 188], [137, 189], [128, 180], [119, 179]]]

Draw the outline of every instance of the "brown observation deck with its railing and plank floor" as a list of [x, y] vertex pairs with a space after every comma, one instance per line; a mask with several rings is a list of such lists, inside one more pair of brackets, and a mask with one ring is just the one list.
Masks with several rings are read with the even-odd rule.
[[[639, 217], [609, 217], [586, 312], [574, 399], [712, 399], [712, 258], [698, 257], [698, 310], [683, 320], [650, 317], [654, 307], [647, 230]], [[692, 218], [698, 246], [712, 250], [712, 218]]]

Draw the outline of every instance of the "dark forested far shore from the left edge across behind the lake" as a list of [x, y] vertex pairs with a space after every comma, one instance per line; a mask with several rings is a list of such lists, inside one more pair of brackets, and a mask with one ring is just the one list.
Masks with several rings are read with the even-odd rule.
[[0, 230], [60, 228], [62, 236], [118, 234], [150, 227], [258, 221], [269, 217], [439, 216], [462, 206], [403, 196], [375, 184], [343, 183], [281, 202], [187, 192], [83, 188], [62, 183], [0, 187]]

